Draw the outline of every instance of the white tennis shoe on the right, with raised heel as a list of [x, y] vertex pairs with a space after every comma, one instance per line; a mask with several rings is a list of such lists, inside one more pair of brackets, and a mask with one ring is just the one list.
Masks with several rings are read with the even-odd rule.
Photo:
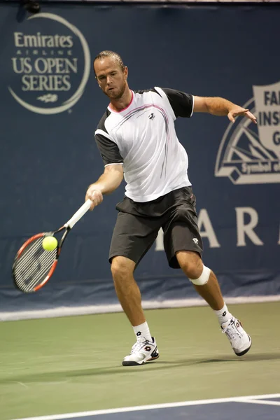
[[243, 356], [250, 350], [252, 340], [250, 335], [242, 328], [241, 322], [234, 316], [221, 325], [222, 332], [227, 335], [232, 349], [237, 356]]

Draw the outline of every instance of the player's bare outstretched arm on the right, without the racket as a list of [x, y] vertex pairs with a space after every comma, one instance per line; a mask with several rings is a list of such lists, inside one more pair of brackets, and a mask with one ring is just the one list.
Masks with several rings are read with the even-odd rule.
[[221, 97], [193, 97], [193, 112], [207, 112], [214, 116], [228, 116], [228, 119], [235, 123], [235, 117], [245, 116], [253, 123], [257, 124], [257, 118], [245, 108], [233, 104]]

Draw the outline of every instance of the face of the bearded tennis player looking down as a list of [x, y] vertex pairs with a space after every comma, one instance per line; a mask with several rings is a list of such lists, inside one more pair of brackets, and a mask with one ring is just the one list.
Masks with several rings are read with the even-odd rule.
[[127, 67], [124, 70], [113, 57], [97, 59], [94, 70], [99, 86], [110, 99], [120, 99], [127, 85]]

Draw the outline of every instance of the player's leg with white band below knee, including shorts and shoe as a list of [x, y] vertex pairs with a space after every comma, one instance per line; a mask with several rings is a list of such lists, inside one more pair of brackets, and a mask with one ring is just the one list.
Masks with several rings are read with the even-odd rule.
[[175, 205], [162, 226], [164, 244], [170, 267], [183, 269], [197, 292], [214, 310], [222, 331], [230, 339], [238, 356], [251, 347], [251, 337], [241, 323], [230, 314], [223, 300], [221, 288], [214, 272], [202, 262], [202, 238], [197, 227], [195, 196], [191, 188], [183, 188], [174, 195]]

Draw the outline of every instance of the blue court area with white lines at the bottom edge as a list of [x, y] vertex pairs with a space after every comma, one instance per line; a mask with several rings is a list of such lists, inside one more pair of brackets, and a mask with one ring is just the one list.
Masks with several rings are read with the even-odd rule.
[[279, 420], [280, 394], [175, 402], [170, 405], [126, 407], [22, 420], [146, 420], [147, 418], [149, 420]]

